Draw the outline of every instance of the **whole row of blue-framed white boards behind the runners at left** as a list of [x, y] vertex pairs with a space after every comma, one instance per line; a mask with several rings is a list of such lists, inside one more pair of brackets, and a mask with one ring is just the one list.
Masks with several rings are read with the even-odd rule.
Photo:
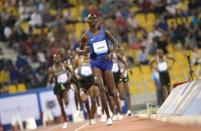
[[[75, 112], [74, 92], [69, 90], [69, 105], [66, 113]], [[61, 110], [52, 89], [38, 89], [20, 94], [0, 96], [0, 121], [3, 125], [11, 124], [12, 117], [25, 121], [27, 118], [40, 120], [41, 112], [50, 110], [53, 116], [61, 115]]]

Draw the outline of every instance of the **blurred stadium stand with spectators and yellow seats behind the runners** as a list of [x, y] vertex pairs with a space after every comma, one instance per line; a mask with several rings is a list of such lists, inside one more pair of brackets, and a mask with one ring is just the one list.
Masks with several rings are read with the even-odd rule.
[[200, 12], [200, 0], [0, 0], [0, 99], [46, 88], [52, 55], [79, 47], [86, 17], [95, 13], [125, 48], [133, 110], [160, 106], [149, 61], [157, 49], [176, 59], [173, 87], [188, 81], [190, 55], [200, 78]]

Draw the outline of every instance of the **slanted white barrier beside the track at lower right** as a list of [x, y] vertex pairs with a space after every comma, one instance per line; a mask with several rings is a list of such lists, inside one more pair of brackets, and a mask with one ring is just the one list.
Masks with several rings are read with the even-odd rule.
[[[172, 92], [157, 113], [162, 116], [200, 114], [199, 110], [201, 111], [201, 101], [200, 103], [198, 102], [200, 93], [200, 80], [179, 85], [172, 90]], [[195, 108], [197, 110], [197, 113], [194, 113]]]

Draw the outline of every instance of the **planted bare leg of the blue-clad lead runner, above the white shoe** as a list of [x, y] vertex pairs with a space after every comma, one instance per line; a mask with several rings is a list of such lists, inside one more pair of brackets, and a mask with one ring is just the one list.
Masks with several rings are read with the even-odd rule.
[[98, 68], [92, 68], [93, 75], [95, 77], [95, 83], [99, 87], [100, 90], [100, 96], [102, 101], [102, 106], [106, 112], [107, 118], [110, 118], [108, 106], [107, 106], [107, 99], [106, 99], [106, 93], [103, 83], [103, 72]]

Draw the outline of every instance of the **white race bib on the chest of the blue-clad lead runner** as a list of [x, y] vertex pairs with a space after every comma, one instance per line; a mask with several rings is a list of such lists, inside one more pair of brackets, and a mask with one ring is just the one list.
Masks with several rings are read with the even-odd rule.
[[94, 52], [98, 55], [107, 53], [108, 46], [105, 40], [93, 43]]

